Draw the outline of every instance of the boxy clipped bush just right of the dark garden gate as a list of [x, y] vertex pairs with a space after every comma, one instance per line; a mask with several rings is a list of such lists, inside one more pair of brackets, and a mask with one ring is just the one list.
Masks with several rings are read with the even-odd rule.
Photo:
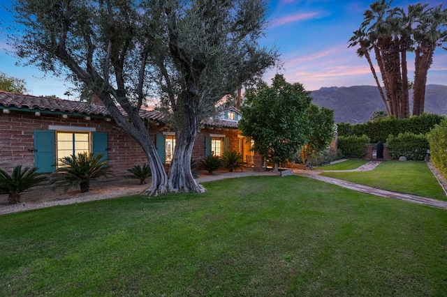
[[386, 139], [388, 154], [393, 159], [403, 155], [408, 160], [424, 160], [430, 147], [426, 135], [413, 133], [400, 133], [397, 136], [390, 135]]

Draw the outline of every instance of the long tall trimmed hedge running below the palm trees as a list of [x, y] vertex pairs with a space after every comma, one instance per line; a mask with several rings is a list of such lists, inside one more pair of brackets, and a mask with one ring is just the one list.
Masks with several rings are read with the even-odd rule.
[[372, 143], [386, 142], [389, 135], [397, 136], [400, 133], [410, 132], [413, 134], [426, 134], [432, 130], [434, 125], [441, 123], [445, 116], [438, 114], [422, 114], [411, 116], [409, 119], [397, 119], [390, 116], [386, 119], [378, 119], [362, 124], [339, 123], [339, 136], [361, 136], [367, 135]]

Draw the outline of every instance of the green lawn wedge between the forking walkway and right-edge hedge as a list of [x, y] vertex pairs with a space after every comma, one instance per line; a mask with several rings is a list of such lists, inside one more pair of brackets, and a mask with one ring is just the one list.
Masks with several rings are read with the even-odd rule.
[[385, 161], [368, 172], [323, 172], [321, 175], [383, 190], [447, 200], [441, 185], [423, 161]]

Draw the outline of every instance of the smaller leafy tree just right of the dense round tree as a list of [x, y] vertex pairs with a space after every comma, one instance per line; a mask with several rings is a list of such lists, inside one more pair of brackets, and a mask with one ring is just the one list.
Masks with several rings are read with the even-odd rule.
[[311, 104], [307, 109], [307, 117], [310, 125], [306, 135], [308, 143], [303, 151], [305, 162], [310, 155], [318, 155], [325, 151], [334, 139], [334, 111], [332, 109], [325, 107], [318, 109], [318, 106]]

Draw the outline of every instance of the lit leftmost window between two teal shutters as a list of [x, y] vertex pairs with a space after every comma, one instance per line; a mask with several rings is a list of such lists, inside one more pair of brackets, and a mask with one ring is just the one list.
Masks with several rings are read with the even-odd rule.
[[56, 158], [58, 164], [61, 158], [90, 152], [89, 132], [56, 132], [56, 137]]

